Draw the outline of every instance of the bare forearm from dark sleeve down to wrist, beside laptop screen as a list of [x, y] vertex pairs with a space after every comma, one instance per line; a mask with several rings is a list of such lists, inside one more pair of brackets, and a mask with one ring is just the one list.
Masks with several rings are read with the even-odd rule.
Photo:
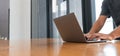
[[98, 20], [94, 23], [93, 27], [89, 31], [89, 33], [98, 33], [103, 27], [107, 16], [101, 15]]

